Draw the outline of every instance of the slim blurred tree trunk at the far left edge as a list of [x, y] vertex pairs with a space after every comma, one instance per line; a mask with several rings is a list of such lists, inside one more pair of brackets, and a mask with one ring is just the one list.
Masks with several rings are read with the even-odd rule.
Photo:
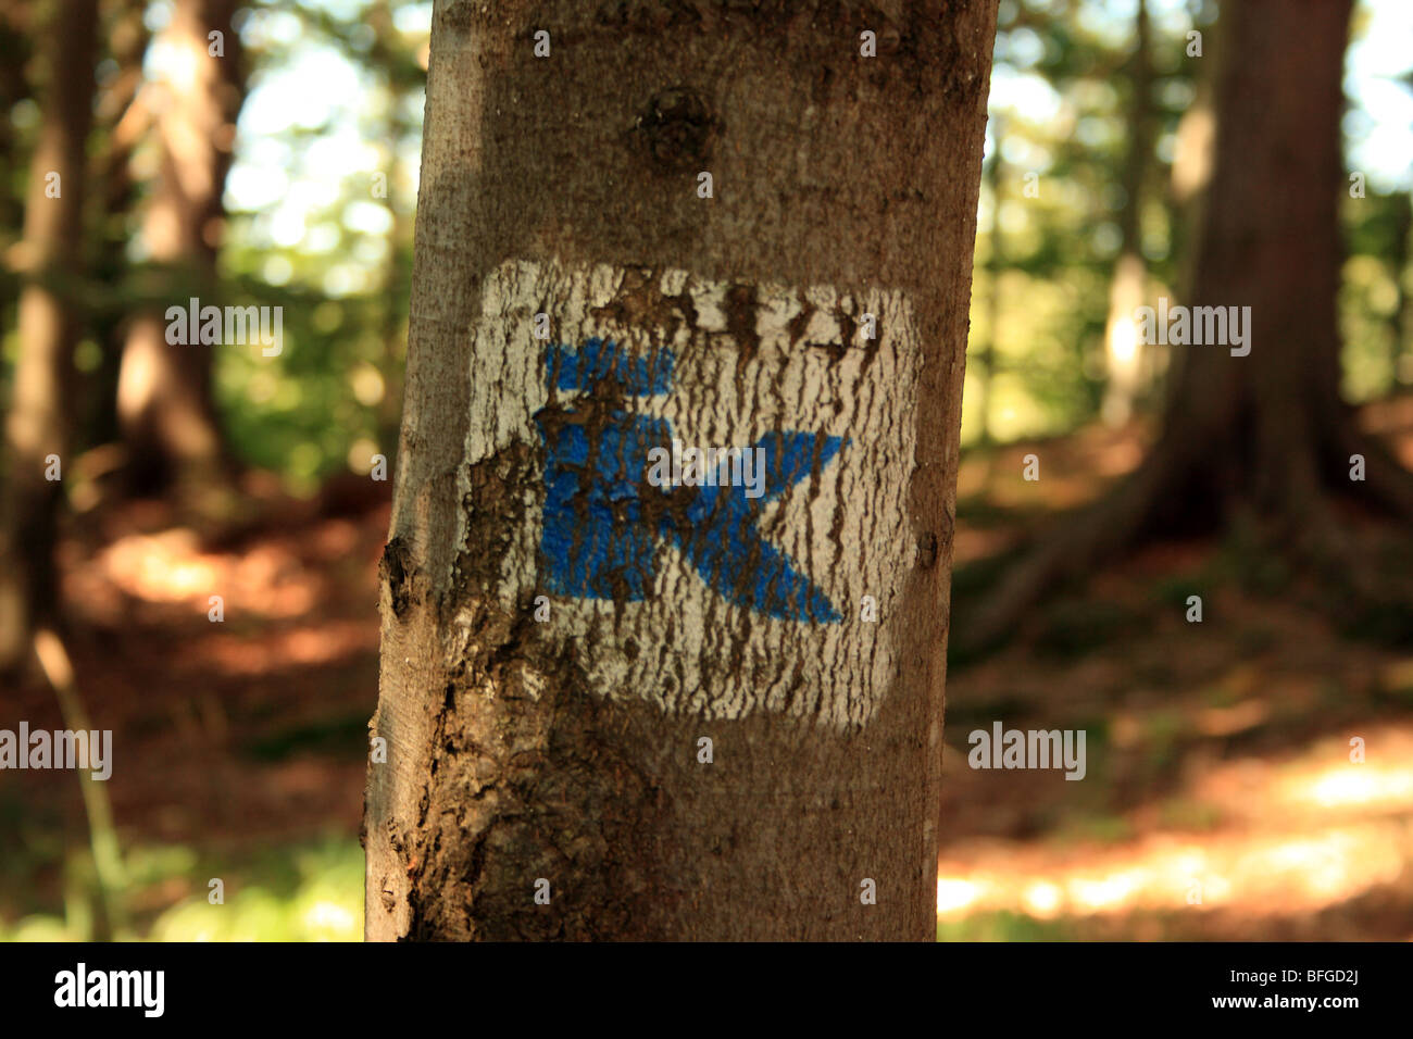
[[[0, 670], [30, 654], [34, 628], [58, 606], [54, 547], [68, 464], [66, 406], [79, 331], [61, 288], [83, 263], [85, 147], [92, 123], [96, 0], [58, 0], [45, 27], [47, 93], [30, 165], [20, 293], [20, 359], [6, 416], [0, 493]], [[58, 180], [54, 180], [54, 177]], [[47, 461], [58, 457], [54, 472]]]

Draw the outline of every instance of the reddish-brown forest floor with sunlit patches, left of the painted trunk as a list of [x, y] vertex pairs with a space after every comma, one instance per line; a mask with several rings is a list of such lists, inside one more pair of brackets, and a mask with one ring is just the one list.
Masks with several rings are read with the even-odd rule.
[[[127, 936], [357, 940], [386, 506], [305, 509], [219, 547], [147, 506], [105, 523], [107, 540], [72, 539], [62, 558], [78, 687], [117, 749], [105, 786]], [[14, 701], [59, 724], [42, 684]], [[0, 847], [20, 851], [0, 857], [0, 939], [102, 933], [88, 845], [72, 773], [6, 773]]]

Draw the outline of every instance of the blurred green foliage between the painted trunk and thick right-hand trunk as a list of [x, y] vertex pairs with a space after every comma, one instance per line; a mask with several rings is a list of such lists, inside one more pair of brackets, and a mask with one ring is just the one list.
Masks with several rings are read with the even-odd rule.
[[[1176, 278], [1178, 229], [1164, 196], [1173, 134], [1194, 92], [1194, 65], [1181, 59], [1191, 23], [1183, 10], [1153, 20], [1149, 103], [1157, 134], [1147, 199], [1133, 201], [1121, 187], [1133, 106], [1128, 17], [1039, 0], [1000, 6], [971, 349], [991, 353], [986, 410], [1002, 441], [1064, 433], [1095, 416], [1106, 377], [1109, 278], [1130, 202], [1140, 206], [1152, 280]], [[982, 434], [979, 379], [971, 366], [968, 444]]]

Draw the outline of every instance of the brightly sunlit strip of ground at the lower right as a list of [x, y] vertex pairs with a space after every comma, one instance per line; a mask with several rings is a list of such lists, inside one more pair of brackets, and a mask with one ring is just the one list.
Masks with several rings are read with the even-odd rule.
[[1413, 729], [1365, 729], [1378, 761], [1349, 762], [1335, 756], [1342, 744], [1320, 741], [1283, 761], [1191, 769], [1173, 799], [1221, 820], [1204, 833], [1139, 807], [1128, 816], [1132, 835], [1116, 844], [957, 841], [940, 862], [938, 919], [1212, 909], [1300, 917], [1396, 885], [1413, 875]]

